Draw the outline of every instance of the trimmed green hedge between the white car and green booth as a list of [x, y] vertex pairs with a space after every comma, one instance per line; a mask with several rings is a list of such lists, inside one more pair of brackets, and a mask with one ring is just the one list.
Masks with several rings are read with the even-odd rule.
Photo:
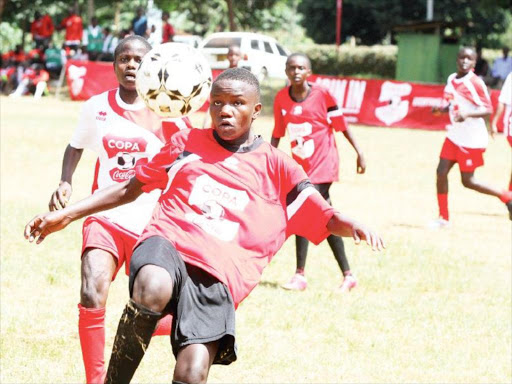
[[398, 48], [394, 45], [356, 46], [302, 45], [313, 73], [334, 76], [395, 77]]

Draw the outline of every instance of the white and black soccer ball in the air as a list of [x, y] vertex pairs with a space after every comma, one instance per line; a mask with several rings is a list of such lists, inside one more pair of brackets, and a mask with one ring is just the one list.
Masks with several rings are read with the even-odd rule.
[[163, 117], [197, 111], [208, 99], [211, 85], [212, 71], [206, 58], [182, 43], [153, 48], [142, 59], [135, 78], [139, 96]]

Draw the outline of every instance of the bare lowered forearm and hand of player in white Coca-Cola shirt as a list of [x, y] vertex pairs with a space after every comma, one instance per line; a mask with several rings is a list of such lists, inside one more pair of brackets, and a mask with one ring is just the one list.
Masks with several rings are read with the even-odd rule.
[[77, 149], [68, 144], [64, 151], [64, 158], [62, 159], [62, 172], [60, 176], [60, 182], [58, 188], [52, 193], [48, 208], [50, 211], [55, 211], [66, 207], [73, 188], [71, 183], [73, 180], [73, 174], [75, 173], [76, 166], [80, 162], [82, 157], [83, 149]]

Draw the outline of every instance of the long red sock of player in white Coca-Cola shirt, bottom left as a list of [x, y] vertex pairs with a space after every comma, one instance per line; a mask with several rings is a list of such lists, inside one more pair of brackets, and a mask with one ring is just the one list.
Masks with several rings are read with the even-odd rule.
[[78, 334], [82, 346], [88, 384], [105, 380], [105, 308], [85, 308], [78, 304]]

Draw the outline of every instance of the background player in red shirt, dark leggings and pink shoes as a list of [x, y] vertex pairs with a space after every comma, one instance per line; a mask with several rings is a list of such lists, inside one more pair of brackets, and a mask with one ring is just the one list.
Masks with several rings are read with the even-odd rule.
[[[309, 58], [294, 53], [286, 61], [286, 76], [290, 85], [278, 92], [274, 100], [274, 131], [271, 144], [277, 148], [281, 137], [288, 131], [292, 145], [292, 156], [306, 171], [309, 180], [329, 204], [329, 188], [338, 181], [339, 156], [334, 132], [343, 135], [357, 153], [357, 173], [364, 173], [366, 163], [363, 152], [336, 100], [329, 91], [307, 81], [311, 75]], [[341, 237], [331, 235], [327, 242], [343, 273], [341, 292], [354, 288], [357, 281], [350, 271]], [[291, 280], [283, 288], [302, 291], [307, 287], [304, 276], [309, 242], [302, 236], [296, 236], [295, 247], [297, 269]]]

